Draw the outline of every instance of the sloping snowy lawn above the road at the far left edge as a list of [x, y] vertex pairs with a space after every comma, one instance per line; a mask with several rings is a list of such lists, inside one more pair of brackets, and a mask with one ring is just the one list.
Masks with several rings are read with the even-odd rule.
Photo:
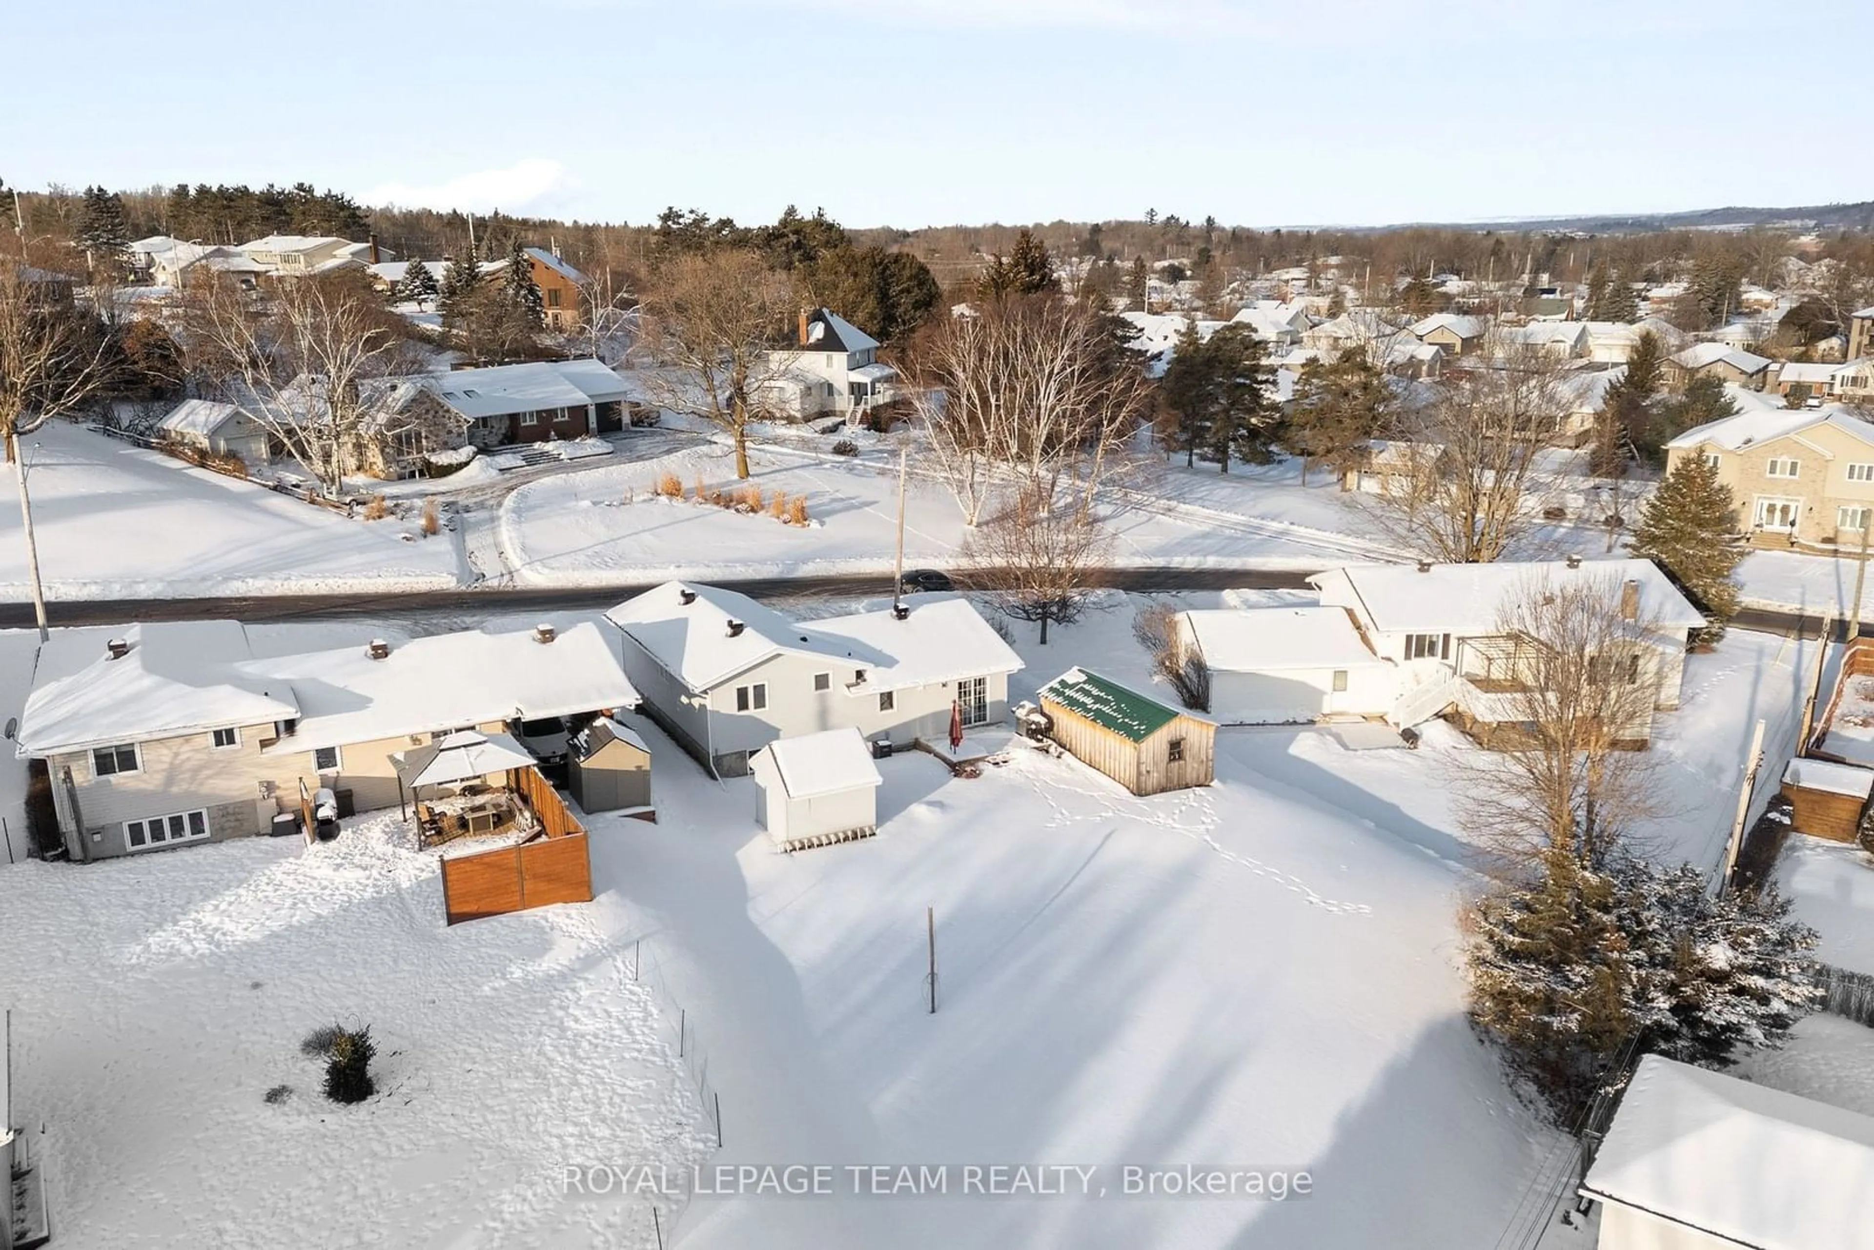
[[[350, 521], [251, 482], [52, 424], [26, 440], [47, 598], [454, 587], [448, 538]], [[407, 542], [405, 536], [410, 536]], [[0, 600], [30, 598], [13, 472], [0, 474]]]

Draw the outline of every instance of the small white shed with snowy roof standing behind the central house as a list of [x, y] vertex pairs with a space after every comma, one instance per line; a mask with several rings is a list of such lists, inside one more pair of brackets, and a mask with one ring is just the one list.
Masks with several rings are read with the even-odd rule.
[[879, 776], [858, 729], [778, 738], [748, 761], [755, 823], [783, 851], [825, 847], [879, 832]]

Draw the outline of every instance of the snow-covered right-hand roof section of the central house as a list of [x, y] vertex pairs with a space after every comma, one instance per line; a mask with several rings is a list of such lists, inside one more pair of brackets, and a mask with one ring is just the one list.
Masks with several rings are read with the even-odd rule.
[[969, 600], [905, 603], [905, 618], [892, 609], [810, 620], [821, 654], [847, 647], [853, 658], [870, 656], [870, 692], [905, 690], [965, 677], [1016, 673], [1021, 658], [989, 628]]

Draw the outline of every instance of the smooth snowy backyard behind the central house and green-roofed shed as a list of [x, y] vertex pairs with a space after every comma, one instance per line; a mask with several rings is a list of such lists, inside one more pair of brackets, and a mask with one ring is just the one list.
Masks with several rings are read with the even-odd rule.
[[596, 907], [645, 935], [708, 1048], [712, 1162], [1316, 1179], [1286, 1203], [699, 1199], [680, 1244], [1490, 1244], [1554, 1145], [1464, 1023], [1462, 873], [1407, 751], [1226, 733], [1218, 785], [1147, 800], [1025, 744], [980, 780], [898, 755], [877, 838], [783, 856], [748, 780], [652, 750], [660, 823], [602, 823]]

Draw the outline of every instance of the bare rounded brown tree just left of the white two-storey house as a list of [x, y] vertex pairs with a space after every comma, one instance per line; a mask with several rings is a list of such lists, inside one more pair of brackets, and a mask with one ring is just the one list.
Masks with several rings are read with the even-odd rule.
[[751, 399], [798, 360], [789, 350], [795, 287], [755, 251], [720, 247], [665, 260], [641, 305], [647, 390], [673, 412], [735, 439], [735, 476], [748, 476]]

